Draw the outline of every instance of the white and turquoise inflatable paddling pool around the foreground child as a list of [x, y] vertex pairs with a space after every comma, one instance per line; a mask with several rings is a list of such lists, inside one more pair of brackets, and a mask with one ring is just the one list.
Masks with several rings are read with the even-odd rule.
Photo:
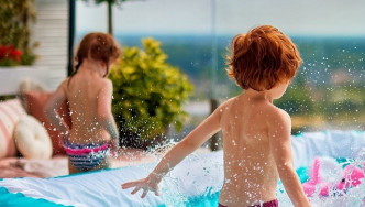
[[[314, 157], [331, 157], [341, 163], [364, 161], [365, 132], [323, 131], [292, 137], [295, 167], [301, 182], [308, 181], [308, 166]], [[131, 195], [122, 190], [124, 182], [146, 176], [156, 163], [104, 170], [54, 178], [0, 179], [0, 206], [193, 206], [217, 207], [223, 183], [222, 151], [203, 155], [192, 154], [177, 165], [161, 183], [162, 196], [142, 192]], [[344, 166], [344, 165], [342, 165]], [[310, 201], [317, 206], [365, 206], [365, 182], [351, 187], [343, 195], [317, 194]], [[279, 183], [277, 197], [280, 206], [292, 206]]]

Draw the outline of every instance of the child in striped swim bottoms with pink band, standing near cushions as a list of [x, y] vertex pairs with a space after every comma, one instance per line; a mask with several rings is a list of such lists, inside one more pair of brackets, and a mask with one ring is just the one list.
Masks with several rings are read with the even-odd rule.
[[[110, 167], [110, 150], [119, 148], [119, 133], [111, 113], [113, 86], [106, 77], [120, 55], [121, 50], [111, 35], [87, 34], [77, 51], [74, 73], [45, 106], [49, 121], [63, 134], [70, 174]], [[70, 109], [71, 129], [55, 110], [65, 100]]]

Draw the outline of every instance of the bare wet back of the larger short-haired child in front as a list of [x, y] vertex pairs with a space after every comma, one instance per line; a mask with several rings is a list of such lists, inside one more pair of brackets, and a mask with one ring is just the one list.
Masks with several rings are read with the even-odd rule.
[[241, 95], [222, 109], [224, 184], [220, 203], [224, 205], [250, 206], [276, 198], [278, 172], [270, 153], [266, 105]]

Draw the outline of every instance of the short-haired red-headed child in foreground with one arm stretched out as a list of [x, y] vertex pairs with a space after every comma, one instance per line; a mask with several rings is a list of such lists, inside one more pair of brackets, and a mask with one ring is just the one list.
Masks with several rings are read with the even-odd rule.
[[129, 182], [145, 197], [158, 195], [162, 178], [222, 130], [224, 183], [219, 206], [278, 206], [276, 187], [280, 178], [295, 206], [310, 206], [292, 163], [290, 117], [275, 107], [296, 75], [301, 58], [288, 36], [272, 25], [254, 28], [233, 37], [228, 75], [244, 89], [210, 115], [176, 144], [145, 178]]

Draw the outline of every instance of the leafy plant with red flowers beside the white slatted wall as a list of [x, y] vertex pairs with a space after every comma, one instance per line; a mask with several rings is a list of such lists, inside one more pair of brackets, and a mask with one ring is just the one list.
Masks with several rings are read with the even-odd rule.
[[8, 47], [1, 66], [31, 65], [35, 55], [30, 45], [29, 23], [35, 21], [34, 0], [2, 0], [0, 7], [0, 46]]

